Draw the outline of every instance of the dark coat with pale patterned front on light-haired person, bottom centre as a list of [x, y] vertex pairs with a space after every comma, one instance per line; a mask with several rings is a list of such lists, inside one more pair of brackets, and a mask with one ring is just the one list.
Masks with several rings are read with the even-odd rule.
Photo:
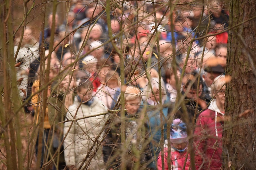
[[[109, 123], [105, 130], [103, 158], [106, 169], [120, 169], [122, 162], [121, 119], [117, 115], [114, 115], [114, 117], [114, 120]], [[145, 169], [147, 162], [152, 160], [147, 141], [148, 131], [146, 125], [141, 124], [138, 115], [126, 114], [125, 126], [126, 169]], [[139, 167], [136, 167], [137, 161], [140, 163]]]

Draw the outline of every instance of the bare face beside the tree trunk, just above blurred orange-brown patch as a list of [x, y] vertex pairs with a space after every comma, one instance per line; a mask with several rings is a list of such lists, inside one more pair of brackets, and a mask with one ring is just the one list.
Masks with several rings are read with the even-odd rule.
[[227, 65], [227, 44], [218, 44], [215, 50], [218, 63], [225, 69]]

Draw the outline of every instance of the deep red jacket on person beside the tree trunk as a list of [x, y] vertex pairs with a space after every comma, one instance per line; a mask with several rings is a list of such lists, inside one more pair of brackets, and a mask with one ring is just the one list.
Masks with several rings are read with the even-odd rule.
[[197, 119], [195, 159], [198, 167], [196, 169], [201, 166], [202, 169], [219, 170], [222, 167], [223, 114], [213, 110], [212, 108], [205, 110]]

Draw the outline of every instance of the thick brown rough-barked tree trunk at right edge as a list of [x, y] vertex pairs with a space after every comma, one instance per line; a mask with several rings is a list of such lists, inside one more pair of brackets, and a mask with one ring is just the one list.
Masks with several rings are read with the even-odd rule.
[[[256, 167], [256, 2], [231, 0], [223, 157], [225, 169]], [[249, 21], [248, 21], [249, 20]], [[242, 23], [244, 22], [244, 23]], [[240, 24], [242, 23], [242, 24]]]

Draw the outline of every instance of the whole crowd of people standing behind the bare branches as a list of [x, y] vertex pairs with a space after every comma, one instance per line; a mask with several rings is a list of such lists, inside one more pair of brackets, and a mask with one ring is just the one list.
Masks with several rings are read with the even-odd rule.
[[62, 24], [49, 14], [39, 39], [29, 26], [16, 39], [20, 98], [44, 129], [42, 168], [222, 168], [224, 1], [182, 1], [174, 11], [166, 3], [127, 1], [107, 21], [102, 3], [81, 1]]

